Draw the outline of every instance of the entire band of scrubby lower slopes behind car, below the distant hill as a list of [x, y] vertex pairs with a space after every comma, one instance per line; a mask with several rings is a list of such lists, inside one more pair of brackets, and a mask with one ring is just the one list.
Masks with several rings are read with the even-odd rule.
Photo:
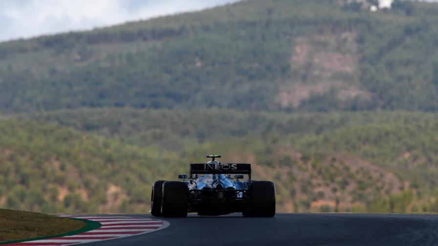
[[[153, 180], [174, 180], [188, 163], [219, 151], [223, 161], [254, 164], [255, 179], [275, 180], [279, 211], [438, 211], [433, 113], [104, 108], [18, 117], [40, 123], [3, 121], [4, 136], [15, 141], [3, 140], [1, 149], [26, 153], [20, 163], [29, 166], [6, 162], [3, 179], [11, 191], [2, 193], [13, 199], [22, 187], [23, 195], [3, 206], [144, 212]], [[22, 184], [31, 168], [38, 171]], [[63, 192], [71, 196], [60, 197]]]

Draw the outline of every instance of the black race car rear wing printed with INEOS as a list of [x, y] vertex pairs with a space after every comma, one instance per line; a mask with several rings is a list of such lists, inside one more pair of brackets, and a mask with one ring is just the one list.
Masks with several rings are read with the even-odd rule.
[[227, 164], [190, 164], [190, 176], [193, 174], [247, 174], [251, 177], [251, 164], [227, 163]]

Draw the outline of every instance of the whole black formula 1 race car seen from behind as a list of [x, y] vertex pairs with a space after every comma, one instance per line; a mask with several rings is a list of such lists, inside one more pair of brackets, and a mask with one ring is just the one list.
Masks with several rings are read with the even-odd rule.
[[[164, 217], [223, 215], [241, 212], [245, 217], [275, 215], [275, 186], [270, 181], [251, 181], [251, 164], [221, 164], [212, 158], [206, 164], [190, 164], [190, 177], [183, 181], [155, 181], [151, 214]], [[234, 177], [231, 177], [234, 174]], [[244, 180], [245, 179], [245, 180]]]

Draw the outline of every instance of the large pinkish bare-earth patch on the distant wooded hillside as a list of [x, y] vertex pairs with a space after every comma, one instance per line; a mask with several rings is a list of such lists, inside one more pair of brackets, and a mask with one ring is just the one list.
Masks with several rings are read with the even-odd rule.
[[290, 62], [291, 77], [280, 86], [277, 102], [282, 107], [300, 106], [313, 94], [334, 93], [345, 101], [370, 98], [359, 88], [356, 34], [352, 32], [301, 36], [295, 39]]

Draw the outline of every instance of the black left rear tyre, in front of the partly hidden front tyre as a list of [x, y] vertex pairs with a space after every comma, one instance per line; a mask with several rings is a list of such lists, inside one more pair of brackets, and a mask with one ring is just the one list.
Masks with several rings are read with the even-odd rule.
[[161, 215], [187, 217], [188, 186], [185, 182], [167, 181], [163, 184]]

